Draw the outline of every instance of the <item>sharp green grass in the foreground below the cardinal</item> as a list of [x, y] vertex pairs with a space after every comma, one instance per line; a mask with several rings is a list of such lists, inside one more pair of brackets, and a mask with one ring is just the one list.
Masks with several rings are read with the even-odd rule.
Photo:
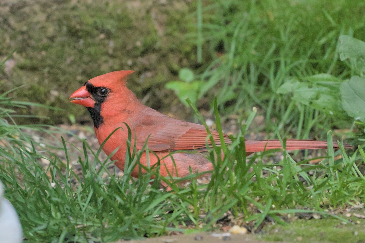
[[[130, 173], [138, 166], [142, 151], [127, 155], [129, 165], [120, 177], [106, 169], [111, 163], [108, 159], [98, 159], [101, 148], [92, 151], [84, 141], [84, 155], [70, 166], [76, 159], [68, 155], [72, 144], [62, 139], [62, 160], [42, 145], [45, 141], [36, 143], [24, 133], [28, 126], [8, 124], [4, 119], [11, 117], [7, 110], [2, 115], [0, 179], [6, 187], [5, 196], [19, 213], [24, 237], [31, 242], [108, 242], [170, 231], [209, 230], [217, 227], [215, 222], [227, 212], [242, 216], [252, 231], [268, 216], [285, 224], [281, 216], [303, 212], [341, 222], [346, 219], [327, 210], [358, 205], [364, 197], [364, 176], [354, 163], [357, 153], [351, 157], [343, 150], [329, 153], [319, 165], [302, 161], [299, 166], [285, 151], [284, 159], [274, 164], [263, 161], [269, 152], [246, 160], [242, 134], [249, 124], [233, 138], [231, 146], [223, 148], [224, 159], [217, 156], [219, 147], [209, 151], [212, 161], [217, 157], [209, 184], [197, 184], [192, 175], [190, 185], [178, 187], [169, 178], [160, 178], [156, 170], [132, 179]], [[217, 124], [221, 132], [219, 118]], [[338, 153], [344, 159], [335, 162]], [[41, 159], [49, 164], [40, 163]], [[74, 170], [78, 165], [80, 174]], [[312, 176], [307, 174], [310, 171]], [[160, 179], [173, 191], [159, 190]]]

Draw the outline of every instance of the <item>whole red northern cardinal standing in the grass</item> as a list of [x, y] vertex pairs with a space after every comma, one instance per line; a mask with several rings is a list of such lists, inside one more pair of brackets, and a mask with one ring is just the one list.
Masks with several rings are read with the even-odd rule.
[[[94, 77], [70, 96], [73, 99], [72, 103], [85, 106], [89, 111], [99, 144], [103, 143], [116, 128], [124, 128], [116, 130], [107, 140], [103, 147], [104, 152], [110, 155], [120, 146], [111, 159], [116, 161], [115, 165], [118, 168], [124, 169], [128, 138], [128, 130], [123, 123], [125, 122], [132, 130], [131, 144], [136, 143], [138, 150], [143, 148], [148, 138], [148, 149], [155, 152], [155, 155], [149, 153], [149, 164], [153, 166], [158, 162], [159, 157], [162, 176], [184, 177], [190, 174], [189, 167], [193, 173], [211, 171], [212, 163], [201, 153], [207, 151], [205, 141], [208, 133], [205, 127], [174, 119], [142, 105], [126, 87], [126, 77], [132, 72], [134, 71], [115, 71]], [[136, 141], [134, 141], [134, 132], [137, 134]], [[215, 143], [220, 144], [218, 132], [211, 130], [211, 133]], [[226, 134], [224, 134], [224, 143], [232, 143]], [[282, 148], [279, 140], [245, 141], [245, 145], [247, 155]], [[337, 145], [334, 147], [338, 148]], [[350, 146], [345, 145], [345, 147]], [[286, 141], [287, 150], [319, 148], [327, 148], [327, 143], [315, 140], [289, 139]], [[180, 152], [170, 155], [172, 151]], [[196, 153], [184, 151], [196, 151]], [[143, 153], [140, 162], [147, 166], [146, 152]], [[138, 176], [138, 167], [135, 167], [132, 176]]]

